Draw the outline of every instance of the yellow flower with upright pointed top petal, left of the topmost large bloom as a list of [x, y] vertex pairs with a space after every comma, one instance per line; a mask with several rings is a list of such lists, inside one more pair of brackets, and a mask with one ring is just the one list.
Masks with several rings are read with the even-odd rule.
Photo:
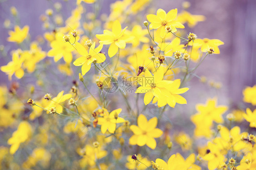
[[113, 57], [118, 52], [118, 48], [124, 49], [126, 42], [133, 40], [133, 36], [125, 36], [124, 31], [127, 29], [125, 27], [122, 30], [121, 24], [118, 20], [115, 20], [112, 25], [112, 31], [104, 30], [103, 34], [97, 34], [96, 37], [100, 40], [103, 45], [110, 44], [108, 48], [108, 56]]

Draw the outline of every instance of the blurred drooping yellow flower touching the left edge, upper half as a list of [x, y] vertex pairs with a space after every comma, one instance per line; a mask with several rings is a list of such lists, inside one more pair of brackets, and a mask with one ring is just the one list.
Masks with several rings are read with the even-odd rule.
[[12, 61], [10, 61], [7, 65], [1, 66], [1, 71], [5, 72], [8, 75], [9, 80], [13, 74], [18, 79], [21, 79], [24, 75], [24, 70], [22, 69], [24, 58], [19, 56], [19, 52], [15, 51], [12, 54]]

